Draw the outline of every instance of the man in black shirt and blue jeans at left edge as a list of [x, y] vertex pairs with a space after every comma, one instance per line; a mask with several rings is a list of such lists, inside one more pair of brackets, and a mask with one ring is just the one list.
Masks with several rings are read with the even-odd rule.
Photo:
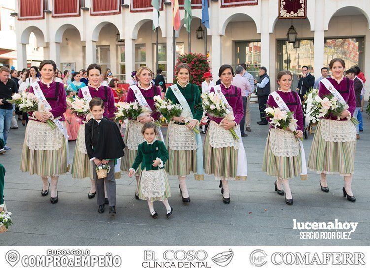
[[6, 145], [8, 138], [10, 123], [13, 117], [13, 105], [8, 102], [12, 95], [18, 93], [18, 87], [13, 80], [9, 78], [9, 68], [0, 67], [0, 139], [4, 141], [4, 148], [0, 149], [0, 154], [11, 150]]

